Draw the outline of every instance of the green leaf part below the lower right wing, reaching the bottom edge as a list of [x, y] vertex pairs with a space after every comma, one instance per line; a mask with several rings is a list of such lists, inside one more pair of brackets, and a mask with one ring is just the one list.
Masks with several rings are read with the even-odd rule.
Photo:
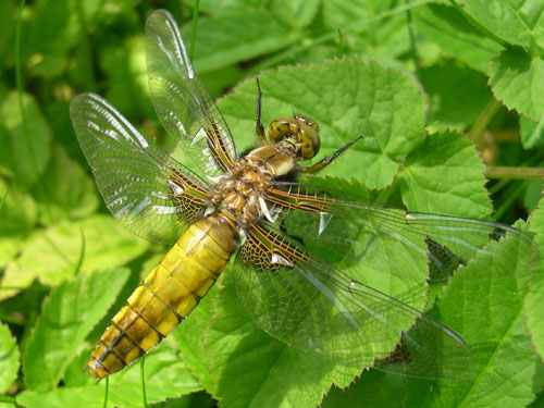
[[[206, 348], [214, 378], [211, 394], [227, 407], [314, 407], [333, 381], [345, 386], [360, 369], [335, 369], [264, 333], [247, 316], [227, 272], [214, 305]], [[209, 390], [210, 391], [210, 390]]]

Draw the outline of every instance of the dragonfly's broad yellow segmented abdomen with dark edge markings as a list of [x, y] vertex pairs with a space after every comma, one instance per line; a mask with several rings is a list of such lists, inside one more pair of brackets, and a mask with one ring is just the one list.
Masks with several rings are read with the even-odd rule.
[[220, 215], [193, 224], [113, 317], [87, 363], [110, 375], [148, 353], [185, 319], [236, 249], [234, 225]]

